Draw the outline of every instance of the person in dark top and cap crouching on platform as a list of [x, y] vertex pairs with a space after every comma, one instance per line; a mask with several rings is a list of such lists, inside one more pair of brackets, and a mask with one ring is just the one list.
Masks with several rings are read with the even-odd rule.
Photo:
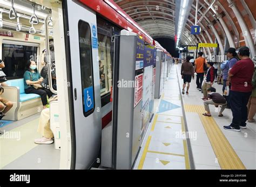
[[204, 116], [208, 116], [208, 117], [212, 116], [209, 105], [215, 105], [215, 107], [218, 107], [219, 105], [221, 105], [219, 117], [223, 117], [222, 113], [227, 106], [227, 101], [223, 96], [215, 92], [216, 92], [216, 89], [213, 87], [207, 89], [207, 93], [208, 93], [207, 100], [204, 101], [205, 110], [207, 111], [207, 113], [203, 113]]

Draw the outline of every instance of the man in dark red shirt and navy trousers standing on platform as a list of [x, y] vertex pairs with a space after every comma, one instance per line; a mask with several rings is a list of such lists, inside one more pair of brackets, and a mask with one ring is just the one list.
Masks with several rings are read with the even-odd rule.
[[252, 76], [254, 73], [254, 63], [250, 59], [250, 49], [241, 47], [238, 52], [240, 61], [228, 71], [231, 81], [230, 106], [233, 120], [230, 126], [224, 126], [225, 130], [240, 131], [246, 128], [247, 103], [252, 92]]

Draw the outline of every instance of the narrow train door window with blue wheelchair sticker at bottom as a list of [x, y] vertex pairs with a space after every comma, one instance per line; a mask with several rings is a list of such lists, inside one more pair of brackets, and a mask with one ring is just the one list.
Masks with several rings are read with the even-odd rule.
[[85, 21], [78, 22], [80, 71], [82, 81], [84, 116], [89, 116], [95, 109], [95, 96], [92, 74], [92, 48], [90, 25]]

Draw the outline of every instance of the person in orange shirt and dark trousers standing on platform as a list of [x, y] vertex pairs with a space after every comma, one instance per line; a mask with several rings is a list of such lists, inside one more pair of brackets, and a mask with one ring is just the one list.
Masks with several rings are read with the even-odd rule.
[[194, 62], [194, 72], [197, 73], [197, 89], [201, 91], [202, 83], [204, 80], [204, 63], [205, 58], [203, 57], [203, 52], [198, 53], [198, 58]]

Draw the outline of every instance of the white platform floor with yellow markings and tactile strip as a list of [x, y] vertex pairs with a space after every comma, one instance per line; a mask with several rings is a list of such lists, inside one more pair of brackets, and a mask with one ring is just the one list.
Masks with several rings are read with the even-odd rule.
[[[154, 117], [147, 129], [133, 169], [256, 169], [256, 123], [241, 132], [224, 130], [232, 121], [231, 109], [210, 105], [205, 112], [203, 93], [190, 83], [182, 95], [181, 64], [172, 65], [160, 99], [154, 100]], [[213, 84], [217, 92], [222, 85]]]

